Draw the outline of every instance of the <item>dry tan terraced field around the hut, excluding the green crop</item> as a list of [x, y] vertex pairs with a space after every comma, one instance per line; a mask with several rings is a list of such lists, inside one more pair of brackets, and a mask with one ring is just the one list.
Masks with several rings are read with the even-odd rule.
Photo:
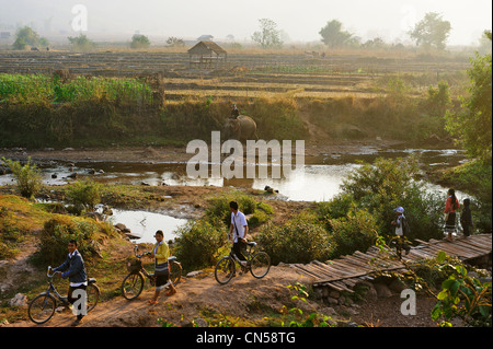
[[232, 54], [228, 56], [226, 66], [205, 70], [190, 69], [186, 53], [0, 51], [0, 73], [51, 74], [58, 69], [69, 70], [76, 75], [100, 77], [161, 73], [165, 78], [167, 100], [188, 96], [272, 97], [279, 93], [318, 98], [367, 97], [383, 93], [381, 81], [386, 77], [406, 77], [420, 91], [440, 79], [460, 75], [468, 65], [467, 58]]

